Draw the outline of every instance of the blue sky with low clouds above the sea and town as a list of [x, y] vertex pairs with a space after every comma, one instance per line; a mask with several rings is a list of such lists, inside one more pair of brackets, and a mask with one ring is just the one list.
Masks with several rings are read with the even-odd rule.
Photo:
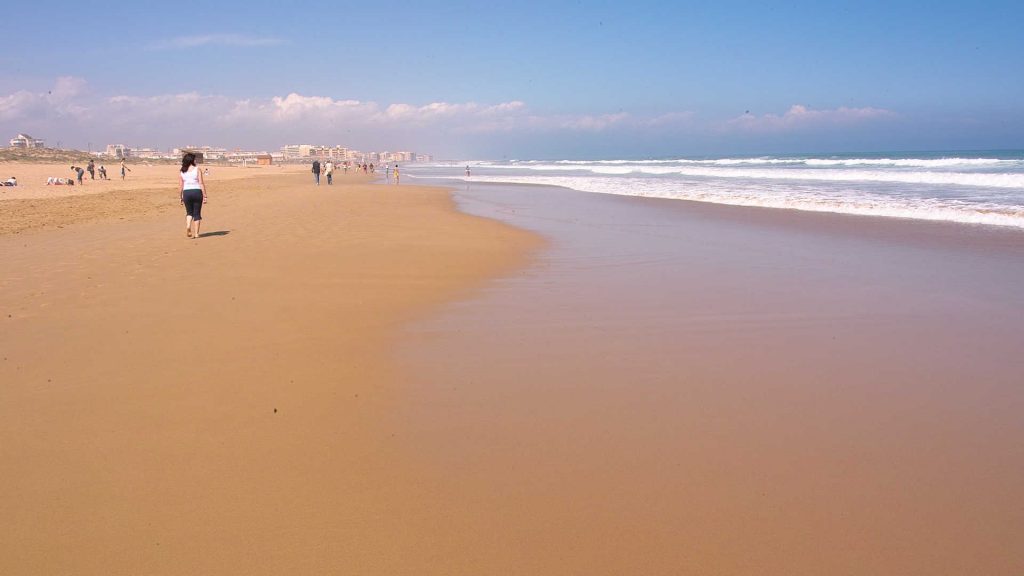
[[14, 2], [32, 40], [0, 55], [0, 130], [452, 158], [1024, 148], [1021, 2], [401, 4]]

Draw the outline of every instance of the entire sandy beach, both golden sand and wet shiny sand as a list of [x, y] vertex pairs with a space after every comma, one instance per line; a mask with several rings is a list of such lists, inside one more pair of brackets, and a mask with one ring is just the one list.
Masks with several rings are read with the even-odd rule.
[[0, 201], [0, 573], [1024, 569], [1019, 232], [159, 170]]

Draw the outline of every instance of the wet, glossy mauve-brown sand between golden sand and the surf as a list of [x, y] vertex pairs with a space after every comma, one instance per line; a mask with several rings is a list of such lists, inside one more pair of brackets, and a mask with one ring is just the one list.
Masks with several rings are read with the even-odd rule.
[[452, 573], [1024, 571], [1024, 234], [458, 190], [552, 247], [399, 355]]

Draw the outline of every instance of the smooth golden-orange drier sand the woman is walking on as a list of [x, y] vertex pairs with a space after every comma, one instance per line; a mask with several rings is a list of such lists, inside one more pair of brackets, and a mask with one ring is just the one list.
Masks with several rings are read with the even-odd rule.
[[540, 240], [442, 190], [219, 170], [188, 240], [161, 170], [144, 208], [0, 236], [0, 574], [429, 564], [389, 342]]

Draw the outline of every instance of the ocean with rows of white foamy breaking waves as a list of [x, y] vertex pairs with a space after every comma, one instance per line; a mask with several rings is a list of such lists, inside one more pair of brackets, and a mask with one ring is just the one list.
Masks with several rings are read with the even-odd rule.
[[471, 181], [1024, 229], [1024, 151], [462, 161], [406, 173], [465, 180], [467, 165]]

